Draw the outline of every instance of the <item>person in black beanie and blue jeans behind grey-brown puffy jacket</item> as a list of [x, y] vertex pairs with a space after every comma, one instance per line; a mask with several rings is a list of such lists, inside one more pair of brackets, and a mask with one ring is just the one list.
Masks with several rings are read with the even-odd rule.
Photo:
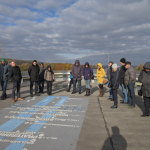
[[127, 94], [127, 87], [124, 83], [124, 77], [125, 77], [125, 72], [126, 72], [125, 62], [126, 62], [125, 58], [120, 59], [120, 64], [122, 65], [120, 69], [120, 88], [123, 94], [123, 101], [121, 103], [127, 104], [128, 94]]

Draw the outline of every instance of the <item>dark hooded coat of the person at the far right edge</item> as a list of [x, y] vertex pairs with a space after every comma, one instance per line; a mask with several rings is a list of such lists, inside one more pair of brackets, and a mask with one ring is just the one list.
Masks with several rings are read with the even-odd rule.
[[[150, 69], [150, 62], [147, 62], [144, 65], [144, 68]], [[146, 72], [145, 70], [141, 71], [138, 81], [142, 83], [142, 94], [145, 97], [150, 97], [150, 71]]]

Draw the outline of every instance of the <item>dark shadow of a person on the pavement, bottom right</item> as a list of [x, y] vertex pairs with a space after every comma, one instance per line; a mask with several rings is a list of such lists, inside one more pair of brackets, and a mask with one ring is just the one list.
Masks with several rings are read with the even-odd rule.
[[109, 150], [111, 144], [112, 150], [127, 150], [127, 141], [120, 134], [120, 130], [117, 126], [112, 127], [112, 136], [107, 138], [101, 150]]

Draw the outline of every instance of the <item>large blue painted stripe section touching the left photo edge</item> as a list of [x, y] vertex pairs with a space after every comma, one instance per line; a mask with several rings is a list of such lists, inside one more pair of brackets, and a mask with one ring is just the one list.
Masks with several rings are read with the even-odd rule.
[[20, 126], [23, 122], [25, 122], [25, 120], [11, 119], [0, 126], [0, 131], [10, 131], [11, 132], [14, 129], [16, 129], [18, 126]]

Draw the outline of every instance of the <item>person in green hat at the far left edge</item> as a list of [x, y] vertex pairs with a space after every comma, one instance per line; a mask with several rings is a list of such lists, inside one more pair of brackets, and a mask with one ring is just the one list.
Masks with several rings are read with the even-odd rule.
[[1, 100], [5, 100], [7, 98], [6, 88], [9, 79], [9, 69], [10, 69], [10, 65], [8, 64], [5, 58], [2, 58], [1, 65], [0, 65], [0, 81], [1, 81], [2, 91], [3, 91]]

